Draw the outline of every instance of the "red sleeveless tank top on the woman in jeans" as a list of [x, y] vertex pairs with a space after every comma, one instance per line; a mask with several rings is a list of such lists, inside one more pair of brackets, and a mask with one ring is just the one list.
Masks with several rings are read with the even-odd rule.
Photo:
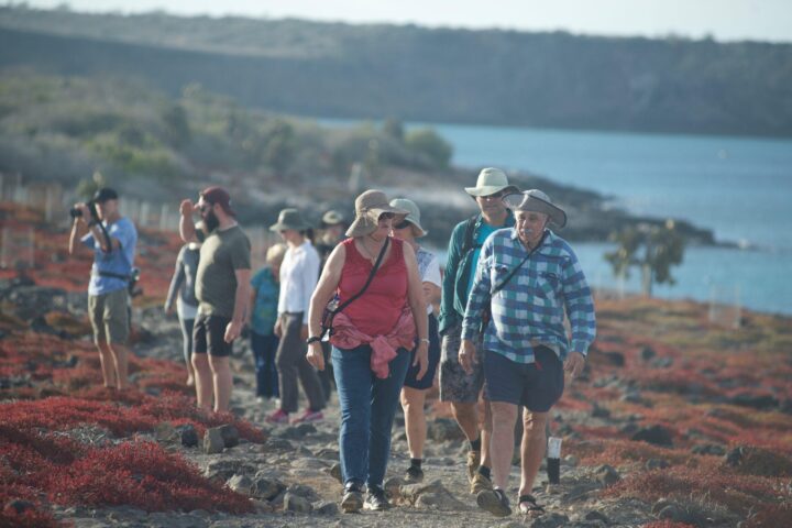
[[[339, 302], [360, 292], [374, 267], [371, 261], [360, 254], [354, 239], [346, 239], [342, 243], [346, 256], [338, 287]], [[380, 265], [369, 288], [343, 310], [358, 330], [367, 336], [389, 333], [407, 304], [407, 266], [403, 243], [391, 238], [391, 253]]]

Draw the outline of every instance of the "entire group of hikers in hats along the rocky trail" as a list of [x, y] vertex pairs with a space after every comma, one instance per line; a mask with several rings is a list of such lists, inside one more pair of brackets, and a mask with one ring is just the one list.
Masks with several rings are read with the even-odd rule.
[[[391, 506], [383, 484], [397, 407], [410, 457], [404, 477], [420, 482], [426, 393], [439, 373], [440, 399], [466, 438], [465, 472], [476, 504], [496, 516], [512, 513], [506, 490], [519, 420], [516, 505], [524, 514], [543, 513], [531, 491], [548, 414], [563, 393], [564, 374], [574, 378], [584, 367], [594, 304], [574, 251], [550, 229], [566, 223], [550, 197], [520, 191], [497, 168], [483, 169], [465, 191], [479, 211], [454, 227], [442, 277], [437, 256], [418, 243], [427, 234], [420, 210], [406, 198], [361, 194], [349, 226], [338, 211], [322, 217], [316, 244], [300, 211], [282, 210], [271, 230], [284, 243], [270, 248], [255, 274], [229, 194], [210, 187], [197, 204], [184, 200], [186, 245], [165, 309], [176, 302], [198, 406], [229, 410], [232, 343], [249, 326], [256, 396], [277, 398], [266, 420], [322, 420], [334, 389], [341, 508], [383, 510]], [[129, 327], [118, 312], [127, 298], [116, 292], [131, 273], [136, 235], [117, 199], [101, 189], [94, 220], [87, 205], [76, 206], [69, 249], [81, 240], [94, 250], [89, 311], [105, 384], [124, 388]], [[295, 416], [300, 386], [307, 407]]]

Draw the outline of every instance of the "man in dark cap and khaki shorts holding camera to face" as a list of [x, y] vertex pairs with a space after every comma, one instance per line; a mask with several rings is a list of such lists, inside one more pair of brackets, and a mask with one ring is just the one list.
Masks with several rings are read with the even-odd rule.
[[105, 386], [129, 386], [128, 286], [132, 279], [138, 231], [119, 211], [118, 193], [109, 187], [97, 190], [88, 204], [75, 204], [69, 237], [69, 254], [80, 248], [94, 252], [88, 285], [88, 314], [99, 349]]

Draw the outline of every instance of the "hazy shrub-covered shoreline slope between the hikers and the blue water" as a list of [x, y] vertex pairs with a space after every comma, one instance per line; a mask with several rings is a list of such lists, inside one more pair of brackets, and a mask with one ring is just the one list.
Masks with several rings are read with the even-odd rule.
[[[130, 76], [0, 73], [0, 175], [57, 184], [74, 200], [90, 194], [91, 175], [100, 174], [123, 198], [175, 213], [183, 198], [221, 184], [246, 226], [270, 226], [287, 206], [318, 226], [331, 208], [351, 220], [354, 196], [383, 188], [414, 199], [429, 243], [444, 248], [453, 226], [475, 211], [463, 188], [474, 185], [477, 168], [454, 167], [451, 155], [431, 128], [405, 130], [394, 119], [329, 129], [195, 82], [172, 97]], [[563, 230], [569, 240], [603, 241], [625, 226], [666, 220], [629, 216], [607, 197], [536, 175], [509, 177], [566, 209], [574, 218]], [[714, 243], [712, 232], [688, 222], [678, 229], [691, 243]]]

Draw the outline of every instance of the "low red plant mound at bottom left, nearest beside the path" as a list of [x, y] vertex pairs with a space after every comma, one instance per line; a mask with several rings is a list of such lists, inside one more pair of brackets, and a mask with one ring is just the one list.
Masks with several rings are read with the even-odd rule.
[[154, 442], [124, 442], [90, 450], [62, 472], [46, 488], [59, 504], [130, 505], [146, 512], [253, 510], [244, 495], [205, 479], [180, 454]]

